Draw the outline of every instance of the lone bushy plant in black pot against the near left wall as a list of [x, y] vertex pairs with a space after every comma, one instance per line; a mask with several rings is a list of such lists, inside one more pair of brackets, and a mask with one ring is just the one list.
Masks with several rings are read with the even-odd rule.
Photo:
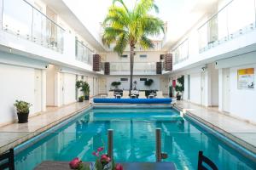
[[16, 100], [14, 105], [17, 111], [19, 123], [27, 122], [28, 115], [29, 115], [29, 108], [32, 105], [22, 100]]

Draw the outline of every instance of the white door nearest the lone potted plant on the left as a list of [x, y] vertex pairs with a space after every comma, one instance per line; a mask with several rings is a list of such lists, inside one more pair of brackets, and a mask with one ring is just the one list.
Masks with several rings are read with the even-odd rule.
[[42, 111], [42, 71], [35, 70], [34, 111]]

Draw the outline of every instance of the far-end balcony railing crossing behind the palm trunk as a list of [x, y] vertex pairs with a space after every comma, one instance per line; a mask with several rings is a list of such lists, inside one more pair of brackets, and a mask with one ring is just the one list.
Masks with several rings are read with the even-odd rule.
[[[135, 74], [155, 74], [155, 62], [135, 62], [133, 65], [133, 72]], [[130, 63], [128, 62], [111, 62], [110, 74], [130, 74]]]

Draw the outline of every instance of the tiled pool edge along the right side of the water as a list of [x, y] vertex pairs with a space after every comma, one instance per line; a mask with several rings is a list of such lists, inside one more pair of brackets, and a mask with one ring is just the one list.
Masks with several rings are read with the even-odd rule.
[[[173, 106], [177, 111], [183, 111], [183, 108]], [[229, 145], [232, 149], [241, 153], [242, 156], [246, 156], [252, 161], [256, 161], [256, 148], [252, 144], [248, 144], [246, 141], [236, 137], [235, 135], [224, 131], [223, 129], [214, 126], [212, 123], [201, 119], [199, 116], [195, 116], [193, 113], [186, 111], [184, 116], [190, 121], [195, 122], [200, 127], [204, 128], [208, 132], [212, 133], [216, 138]]]

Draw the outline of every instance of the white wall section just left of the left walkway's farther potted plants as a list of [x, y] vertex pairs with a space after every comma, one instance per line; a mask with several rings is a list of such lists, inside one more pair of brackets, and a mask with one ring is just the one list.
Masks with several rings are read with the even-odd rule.
[[76, 75], [64, 73], [64, 104], [70, 104], [76, 101]]

